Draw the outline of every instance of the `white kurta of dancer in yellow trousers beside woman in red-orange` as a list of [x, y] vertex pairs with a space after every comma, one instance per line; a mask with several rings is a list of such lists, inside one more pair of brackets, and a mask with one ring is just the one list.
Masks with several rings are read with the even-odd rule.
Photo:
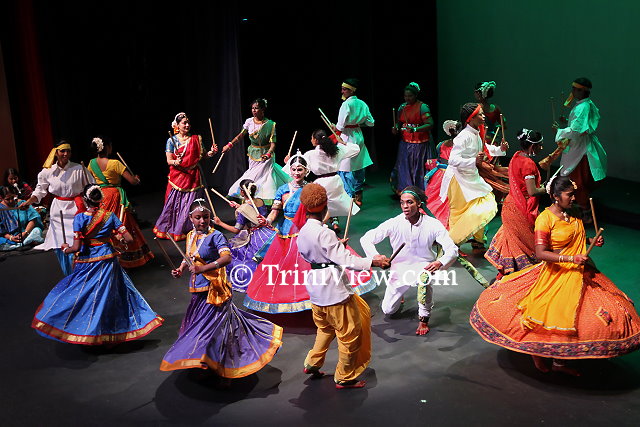
[[[453, 139], [453, 148], [449, 155], [449, 166], [445, 169], [440, 186], [440, 200], [447, 200], [449, 183], [456, 177], [462, 194], [467, 202], [489, 194], [492, 189], [478, 173], [476, 157], [482, 152], [483, 141], [477, 129], [467, 125]], [[506, 153], [495, 145], [488, 145], [489, 154], [494, 157], [504, 156]]]

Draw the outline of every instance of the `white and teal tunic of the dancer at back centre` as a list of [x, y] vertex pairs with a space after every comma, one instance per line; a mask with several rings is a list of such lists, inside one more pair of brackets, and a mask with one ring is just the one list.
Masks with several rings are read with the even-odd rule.
[[353, 95], [347, 98], [340, 106], [336, 129], [342, 132], [344, 142], [358, 144], [360, 153], [354, 158], [345, 159], [340, 163], [340, 170], [344, 172], [356, 171], [371, 166], [373, 162], [369, 156], [369, 150], [364, 145], [364, 136], [361, 126], [373, 126], [374, 120], [369, 106], [364, 101]]

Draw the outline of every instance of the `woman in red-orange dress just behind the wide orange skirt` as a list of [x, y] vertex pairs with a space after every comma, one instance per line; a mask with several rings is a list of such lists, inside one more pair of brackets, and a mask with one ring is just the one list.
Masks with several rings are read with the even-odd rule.
[[539, 196], [546, 191], [532, 157], [542, 150], [542, 134], [521, 129], [517, 151], [509, 163], [511, 190], [502, 206], [502, 226], [491, 240], [484, 257], [498, 270], [497, 279], [538, 262], [533, 229], [538, 216]]

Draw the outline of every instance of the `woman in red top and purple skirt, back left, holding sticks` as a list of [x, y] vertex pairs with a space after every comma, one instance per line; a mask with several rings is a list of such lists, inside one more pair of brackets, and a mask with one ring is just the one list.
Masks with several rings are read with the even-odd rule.
[[[169, 182], [164, 195], [162, 213], [153, 227], [153, 233], [167, 239], [184, 240], [191, 228], [189, 205], [197, 198], [204, 197], [202, 177], [198, 162], [203, 155], [202, 137], [191, 135], [191, 123], [185, 113], [176, 114], [171, 123], [175, 136], [167, 139], [165, 154], [169, 165]], [[217, 150], [208, 153], [213, 155]]]

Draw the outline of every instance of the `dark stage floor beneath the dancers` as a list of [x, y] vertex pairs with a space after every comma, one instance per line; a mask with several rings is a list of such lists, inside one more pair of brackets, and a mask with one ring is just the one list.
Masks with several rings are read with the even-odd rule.
[[[143, 220], [153, 222], [163, 189], [136, 196]], [[215, 200], [223, 219], [230, 208]], [[384, 219], [400, 213], [386, 176], [372, 174], [364, 209], [352, 219], [350, 244]], [[492, 236], [499, 218], [490, 224]], [[593, 252], [598, 267], [634, 300], [640, 300], [632, 249], [640, 231], [602, 224], [606, 244]], [[373, 357], [367, 386], [336, 390], [331, 375], [310, 380], [302, 363], [315, 329], [310, 312], [271, 315], [284, 327], [283, 346], [257, 374], [218, 387], [200, 370], [161, 372], [189, 301], [186, 279], [174, 280], [157, 258], [130, 275], [152, 308], [165, 318], [142, 340], [111, 350], [63, 344], [36, 334], [30, 323], [47, 292], [62, 278], [53, 253], [12, 254], [0, 271], [0, 424], [70, 425], [636, 425], [640, 419], [640, 352], [608, 361], [577, 362], [583, 377], [538, 372], [531, 358], [483, 341], [469, 325], [482, 287], [459, 265], [457, 284], [434, 289], [431, 332], [417, 337], [415, 291], [399, 319], [380, 311], [384, 288], [364, 296], [372, 309]], [[590, 233], [592, 235], [593, 233]], [[174, 259], [177, 251], [165, 245]], [[390, 254], [387, 242], [381, 252]], [[463, 250], [471, 253], [468, 245]], [[360, 251], [360, 253], [362, 253]], [[487, 278], [495, 270], [469, 258]], [[234, 295], [242, 306], [243, 294]], [[333, 373], [335, 344], [325, 371]], [[635, 421], [634, 421], [635, 420]]]

